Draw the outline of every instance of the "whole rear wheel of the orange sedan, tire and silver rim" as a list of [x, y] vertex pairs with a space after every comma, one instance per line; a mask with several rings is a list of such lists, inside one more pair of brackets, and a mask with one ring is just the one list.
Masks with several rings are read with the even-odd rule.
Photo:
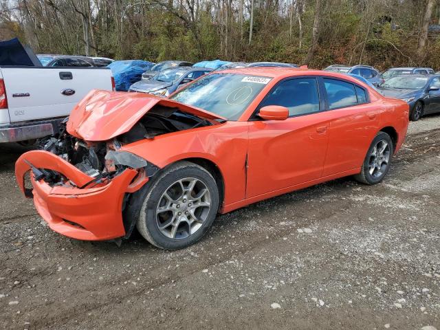
[[361, 172], [355, 179], [363, 184], [377, 184], [382, 181], [391, 166], [393, 157], [393, 141], [385, 132], [377, 133], [366, 153]]

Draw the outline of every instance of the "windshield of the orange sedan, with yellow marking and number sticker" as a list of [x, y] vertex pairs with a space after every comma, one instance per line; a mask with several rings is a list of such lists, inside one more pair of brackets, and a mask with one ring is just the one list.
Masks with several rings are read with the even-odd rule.
[[245, 74], [209, 74], [170, 98], [237, 120], [272, 78]]

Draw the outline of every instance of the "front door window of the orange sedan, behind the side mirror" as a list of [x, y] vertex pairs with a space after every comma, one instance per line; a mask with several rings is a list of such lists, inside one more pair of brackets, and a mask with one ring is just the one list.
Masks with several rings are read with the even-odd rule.
[[281, 105], [289, 109], [289, 116], [319, 111], [319, 92], [316, 78], [298, 78], [278, 83], [263, 100], [266, 105]]

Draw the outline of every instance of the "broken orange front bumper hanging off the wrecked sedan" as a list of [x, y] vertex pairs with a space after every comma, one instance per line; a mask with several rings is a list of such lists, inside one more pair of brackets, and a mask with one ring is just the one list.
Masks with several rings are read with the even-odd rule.
[[[15, 165], [17, 182], [27, 197], [30, 193], [24, 186], [24, 176], [30, 171], [30, 165], [25, 161], [36, 168], [56, 170], [78, 187], [94, 179], [52, 153], [29, 151], [21, 155]], [[43, 179], [37, 181], [31, 173], [35, 208], [52, 230], [73, 239], [104, 241], [122, 237], [125, 235], [122, 222], [124, 194], [140, 188], [140, 182], [135, 179], [137, 174], [137, 170], [126, 168], [109, 184], [76, 188], [50, 186]], [[147, 180], [143, 177], [141, 181], [144, 184]]]

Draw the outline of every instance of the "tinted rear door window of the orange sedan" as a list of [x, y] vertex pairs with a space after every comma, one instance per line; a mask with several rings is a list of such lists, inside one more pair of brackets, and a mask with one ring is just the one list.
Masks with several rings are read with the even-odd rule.
[[350, 107], [358, 104], [355, 86], [342, 80], [324, 78], [329, 109]]

